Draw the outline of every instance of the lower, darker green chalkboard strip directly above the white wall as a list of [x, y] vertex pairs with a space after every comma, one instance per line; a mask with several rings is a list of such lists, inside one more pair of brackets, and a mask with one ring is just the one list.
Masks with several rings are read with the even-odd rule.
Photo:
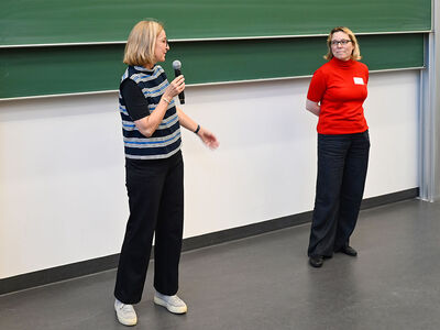
[[[362, 35], [370, 69], [424, 66], [424, 34]], [[0, 98], [118, 89], [123, 45], [0, 48]], [[324, 63], [326, 37], [172, 43], [163, 64], [180, 59], [186, 82], [311, 75]]]

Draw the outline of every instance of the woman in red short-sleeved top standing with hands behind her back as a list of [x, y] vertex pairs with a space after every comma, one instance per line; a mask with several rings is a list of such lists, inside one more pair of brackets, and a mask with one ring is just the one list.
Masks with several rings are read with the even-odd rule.
[[327, 38], [328, 62], [311, 78], [306, 109], [318, 120], [318, 178], [308, 248], [320, 267], [333, 252], [356, 256], [349, 245], [356, 224], [369, 164], [370, 138], [364, 118], [369, 68], [359, 62], [358, 40], [348, 28]]

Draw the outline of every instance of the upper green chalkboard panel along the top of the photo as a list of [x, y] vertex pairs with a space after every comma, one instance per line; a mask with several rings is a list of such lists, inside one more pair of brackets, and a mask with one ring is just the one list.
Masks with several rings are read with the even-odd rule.
[[172, 40], [431, 30], [431, 0], [1, 0], [0, 45], [125, 41], [163, 21]]

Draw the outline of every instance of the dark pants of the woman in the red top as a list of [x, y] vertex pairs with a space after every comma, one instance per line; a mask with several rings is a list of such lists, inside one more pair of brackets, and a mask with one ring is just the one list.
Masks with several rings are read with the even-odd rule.
[[318, 178], [308, 255], [331, 256], [349, 244], [369, 165], [369, 131], [318, 134]]

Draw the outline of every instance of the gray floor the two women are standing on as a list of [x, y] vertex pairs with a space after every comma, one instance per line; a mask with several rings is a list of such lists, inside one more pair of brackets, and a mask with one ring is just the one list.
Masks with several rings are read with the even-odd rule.
[[[136, 305], [136, 329], [440, 329], [440, 204], [361, 212], [352, 245], [307, 264], [309, 224], [183, 254], [188, 314]], [[152, 267], [150, 267], [152, 270]], [[0, 296], [0, 329], [127, 329], [112, 309], [114, 271]]]

